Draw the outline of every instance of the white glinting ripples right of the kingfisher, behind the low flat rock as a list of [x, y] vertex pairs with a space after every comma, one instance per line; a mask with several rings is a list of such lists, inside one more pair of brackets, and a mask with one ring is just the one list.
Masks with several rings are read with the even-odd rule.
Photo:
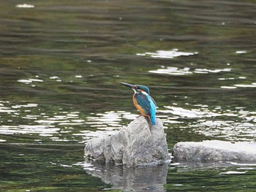
[[170, 116], [176, 120], [183, 120], [183, 122], [185, 119], [189, 120], [187, 128], [206, 137], [255, 141], [255, 111], [249, 112], [243, 107], [236, 107], [235, 110], [223, 110], [222, 107], [210, 110], [207, 105], [194, 107], [195, 109], [186, 110], [181, 107], [165, 106], [166, 110], [159, 110], [159, 112], [171, 114]]

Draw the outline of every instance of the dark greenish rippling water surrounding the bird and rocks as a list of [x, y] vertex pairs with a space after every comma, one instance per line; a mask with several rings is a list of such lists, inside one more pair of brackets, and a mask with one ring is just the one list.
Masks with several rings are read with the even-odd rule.
[[255, 1], [25, 3], [0, 7], [1, 191], [254, 191], [255, 164], [102, 167], [83, 147], [138, 116], [118, 82], [151, 88], [170, 150], [255, 142]]

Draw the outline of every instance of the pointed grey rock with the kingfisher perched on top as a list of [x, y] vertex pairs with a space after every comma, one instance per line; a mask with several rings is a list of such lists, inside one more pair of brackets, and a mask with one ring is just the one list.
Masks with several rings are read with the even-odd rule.
[[117, 134], [89, 140], [85, 156], [127, 166], [170, 161], [162, 120], [151, 126], [144, 117], [136, 118]]

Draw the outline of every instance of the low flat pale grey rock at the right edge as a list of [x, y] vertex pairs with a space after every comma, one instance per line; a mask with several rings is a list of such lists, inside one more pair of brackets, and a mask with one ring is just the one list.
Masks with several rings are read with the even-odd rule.
[[256, 143], [249, 142], [178, 142], [173, 147], [174, 161], [208, 163], [217, 161], [255, 162]]

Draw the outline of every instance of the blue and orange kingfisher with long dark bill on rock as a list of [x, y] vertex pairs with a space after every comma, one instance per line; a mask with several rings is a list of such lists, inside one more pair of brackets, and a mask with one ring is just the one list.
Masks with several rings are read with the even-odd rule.
[[132, 85], [126, 82], [120, 82], [120, 84], [132, 88], [135, 92], [132, 96], [133, 104], [139, 110], [140, 116], [149, 118], [154, 126], [156, 124], [157, 104], [150, 96], [149, 88], [145, 85]]

